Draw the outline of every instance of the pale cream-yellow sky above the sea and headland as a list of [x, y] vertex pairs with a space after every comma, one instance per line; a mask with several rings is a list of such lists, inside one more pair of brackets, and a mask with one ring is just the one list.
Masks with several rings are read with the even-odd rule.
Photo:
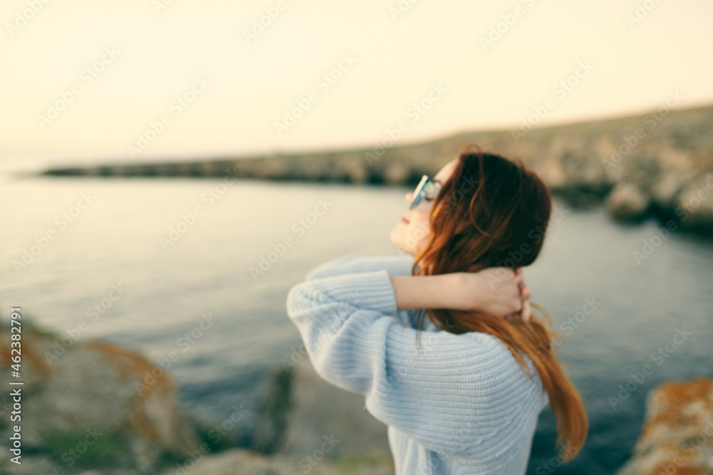
[[674, 91], [709, 105], [712, 20], [707, 0], [6, 0], [0, 164], [401, 145], [643, 115]]

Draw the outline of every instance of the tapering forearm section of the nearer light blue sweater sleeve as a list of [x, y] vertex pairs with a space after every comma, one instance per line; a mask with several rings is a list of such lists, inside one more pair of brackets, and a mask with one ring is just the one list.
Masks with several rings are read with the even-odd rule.
[[391, 276], [386, 269], [315, 278], [307, 283], [331, 301], [390, 315], [399, 312], [394, 284], [391, 283]]

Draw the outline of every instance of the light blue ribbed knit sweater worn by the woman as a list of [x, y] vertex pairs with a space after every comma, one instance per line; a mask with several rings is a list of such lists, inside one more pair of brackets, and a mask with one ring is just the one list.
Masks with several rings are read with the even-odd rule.
[[396, 475], [520, 475], [548, 395], [493, 335], [456, 335], [398, 310], [389, 276], [411, 256], [350, 254], [323, 263], [287, 294], [287, 315], [317, 374], [366, 397], [388, 426]]

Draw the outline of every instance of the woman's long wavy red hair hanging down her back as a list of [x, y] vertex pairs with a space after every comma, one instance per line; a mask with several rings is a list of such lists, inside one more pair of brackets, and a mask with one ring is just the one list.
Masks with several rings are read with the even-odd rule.
[[[429, 242], [415, 258], [412, 275], [477, 272], [500, 266], [515, 268], [533, 263], [542, 249], [552, 203], [542, 180], [519, 159], [508, 160], [482, 152], [468, 142], [458, 152], [458, 164], [434, 199]], [[589, 422], [584, 404], [555, 357], [551, 343], [560, 333], [550, 330], [550, 315], [535, 303], [548, 325], [506, 320], [481, 311], [422, 309], [414, 314], [417, 340], [424, 315], [440, 330], [461, 334], [495, 335], [513, 354], [530, 379], [533, 375], [522, 354], [533, 362], [557, 416], [563, 461], [583, 447]], [[420, 345], [420, 343], [419, 343]]]

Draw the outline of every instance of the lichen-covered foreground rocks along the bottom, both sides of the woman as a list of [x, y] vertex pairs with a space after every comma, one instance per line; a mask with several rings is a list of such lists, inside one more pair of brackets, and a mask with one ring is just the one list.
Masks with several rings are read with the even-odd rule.
[[[182, 414], [175, 382], [140, 353], [23, 320], [22, 464], [0, 451], [2, 474], [394, 473], [386, 426], [366, 411], [363, 397], [322, 380], [307, 356], [270, 372], [250, 447], [241, 447], [239, 437], [224, 432], [216, 440], [208, 425]], [[9, 325], [0, 325], [6, 380], [10, 342]], [[11, 404], [7, 397], [0, 404], [5, 441], [14, 430]], [[234, 409], [231, 421], [242, 417], [242, 407]], [[617, 475], [661, 473], [713, 473], [712, 378], [666, 382], [648, 395], [632, 459]]]

